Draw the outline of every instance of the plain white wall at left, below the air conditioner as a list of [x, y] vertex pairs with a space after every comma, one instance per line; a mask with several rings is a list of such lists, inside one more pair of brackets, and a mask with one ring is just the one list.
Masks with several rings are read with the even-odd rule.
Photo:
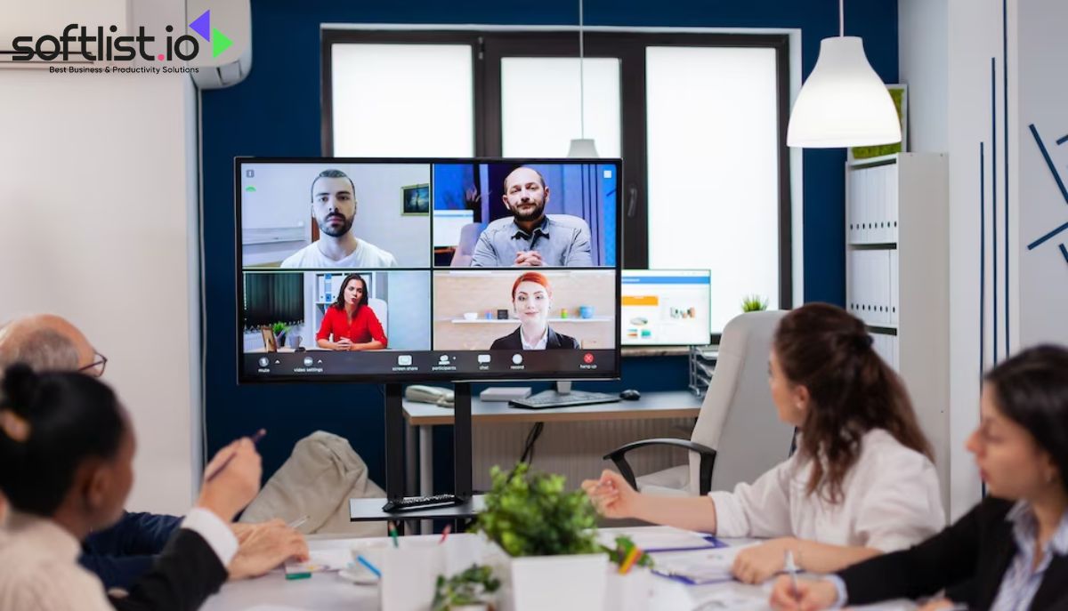
[[51, 311], [87, 333], [138, 436], [127, 506], [185, 512], [200, 461], [195, 91], [6, 68], [0, 92], [0, 318]]

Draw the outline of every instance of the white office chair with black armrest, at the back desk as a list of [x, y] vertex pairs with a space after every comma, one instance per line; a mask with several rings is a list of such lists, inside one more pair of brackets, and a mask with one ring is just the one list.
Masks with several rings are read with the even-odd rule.
[[[708, 394], [690, 440], [646, 439], [604, 456], [632, 486], [659, 496], [696, 496], [731, 490], [785, 460], [794, 427], [779, 420], [768, 387], [768, 357], [775, 326], [785, 312], [750, 312], [727, 323]], [[634, 479], [626, 454], [646, 445], [690, 451], [690, 464]]]

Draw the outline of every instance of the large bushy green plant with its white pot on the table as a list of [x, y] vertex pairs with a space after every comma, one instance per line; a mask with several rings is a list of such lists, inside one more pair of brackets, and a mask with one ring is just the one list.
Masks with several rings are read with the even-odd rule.
[[564, 476], [493, 467], [492, 489], [475, 530], [511, 557], [516, 611], [604, 608], [608, 554], [597, 544], [597, 514], [585, 492], [564, 490]]

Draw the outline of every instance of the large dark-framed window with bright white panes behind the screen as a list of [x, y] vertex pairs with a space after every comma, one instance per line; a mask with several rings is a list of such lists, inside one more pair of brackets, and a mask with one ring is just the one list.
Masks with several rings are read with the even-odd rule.
[[[596, 31], [585, 57], [625, 267], [711, 269], [714, 332], [745, 295], [790, 306], [787, 35]], [[327, 155], [563, 157], [580, 132], [574, 32], [325, 30], [323, 72]]]

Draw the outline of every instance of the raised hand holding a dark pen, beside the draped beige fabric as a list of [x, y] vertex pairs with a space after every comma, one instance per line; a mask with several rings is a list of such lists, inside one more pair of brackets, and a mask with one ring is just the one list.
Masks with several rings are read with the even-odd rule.
[[[219, 471], [223, 463], [226, 468]], [[252, 440], [242, 437], [234, 441], [220, 450], [204, 469], [205, 481], [197, 506], [210, 511], [224, 522], [231, 521], [260, 491], [262, 469]], [[206, 477], [213, 473], [217, 475], [208, 482]]]

